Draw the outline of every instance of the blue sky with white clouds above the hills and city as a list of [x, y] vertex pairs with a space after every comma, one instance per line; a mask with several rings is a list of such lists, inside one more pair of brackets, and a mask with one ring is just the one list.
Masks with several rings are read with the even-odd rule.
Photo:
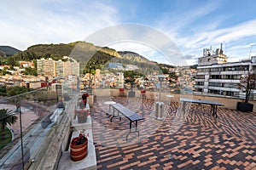
[[[256, 55], [254, 0], [0, 0], [0, 4], [0, 45], [20, 50], [38, 43], [91, 40], [172, 64], [174, 57], [154, 43], [164, 41], [160, 36], [177, 47], [188, 65], [197, 64], [203, 48], [220, 48], [220, 43], [230, 62]], [[131, 25], [136, 32], [130, 32]], [[101, 32], [107, 32], [108, 41], [97, 44]]]

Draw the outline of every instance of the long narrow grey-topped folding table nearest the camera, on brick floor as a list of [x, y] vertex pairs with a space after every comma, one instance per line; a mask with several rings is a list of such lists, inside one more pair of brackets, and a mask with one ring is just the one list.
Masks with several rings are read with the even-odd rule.
[[[110, 118], [110, 122], [112, 122], [114, 117], [119, 117], [119, 120], [121, 120], [121, 116], [119, 116], [119, 113], [121, 113], [122, 115], [124, 115], [126, 118], [128, 118], [130, 120], [130, 132], [126, 135], [126, 140], [130, 133], [137, 132], [138, 136], [140, 135], [139, 132], [137, 131], [137, 122], [140, 120], [143, 120], [144, 119], [143, 116], [138, 115], [136, 112], [129, 110], [124, 105], [121, 105], [119, 103], [109, 105], [109, 107], [113, 107], [113, 116]], [[114, 115], [115, 111], [118, 112], [118, 115]], [[135, 124], [135, 131], [133, 131], [133, 132], [131, 131], [131, 123], [132, 122]]]

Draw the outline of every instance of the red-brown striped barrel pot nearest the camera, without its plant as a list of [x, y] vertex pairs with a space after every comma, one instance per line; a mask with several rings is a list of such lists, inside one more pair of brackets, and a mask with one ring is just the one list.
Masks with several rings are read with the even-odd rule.
[[[84, 137], [85, 138], [85, 137]], [[70, 144], [70, 158], [72, 161], [81, 161], [88, 154], [88, 139], [85, 138], [84, 144]]]

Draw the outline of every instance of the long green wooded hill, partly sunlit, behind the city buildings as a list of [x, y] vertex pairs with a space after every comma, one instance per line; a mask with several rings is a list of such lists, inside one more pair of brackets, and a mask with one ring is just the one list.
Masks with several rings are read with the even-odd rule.
[[[15, 54], [15, 60], [32, 60], [40, 58], [62, 59], [70, 56], [80, 63], [81, 72], [89, 72], [93, 65], [96, 68], [108, 69], [108, 62], [119, 62], [123, 65], [137, 65], [140, 71], [156, 71], [155, 62], [134, 52], [117, 52], [113, 48], [98, 47], [90, 42], [71, 42], [60, 44], [38, 44]], [[152, 66], [154, 64], [154, 66]]]

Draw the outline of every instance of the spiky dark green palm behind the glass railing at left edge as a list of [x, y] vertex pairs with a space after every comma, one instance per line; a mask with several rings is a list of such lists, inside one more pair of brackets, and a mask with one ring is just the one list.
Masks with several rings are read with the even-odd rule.
[[1, 123], [1, 131], [2, 137], [5, 138], [5, 127], [9, 124], [12, 125], [17, 121], [18, 117], [13, 114], [13, 111], [9, 111], [8, 109], [0, 110], [0, 123]]

